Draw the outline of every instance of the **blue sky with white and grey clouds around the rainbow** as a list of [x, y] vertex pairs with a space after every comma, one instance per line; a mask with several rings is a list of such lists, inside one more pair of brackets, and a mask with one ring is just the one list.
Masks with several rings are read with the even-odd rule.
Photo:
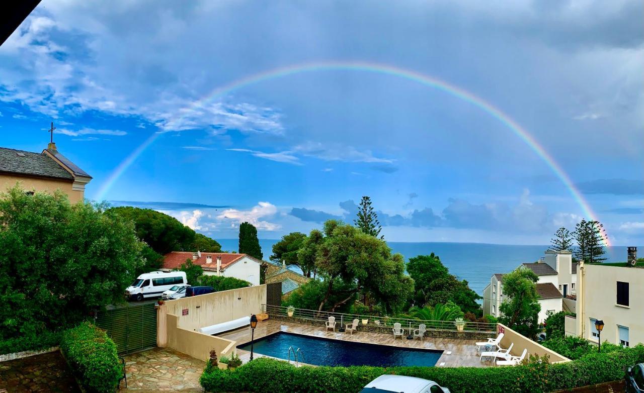
[[[214, 238], [352, 220], [374, 200], [391, 241], [547, 244], [582, 208], [489, 113], [412, 80], [294, 73], [403, 68], [458, 86], [527, 129], [613, 244], [644, 242], [641, 1], [43, 0], [0, 47], [0, 145], [59, 150], [86, 196], [156, 208]], [[104, 195], [110, 174], [158, 138]]]

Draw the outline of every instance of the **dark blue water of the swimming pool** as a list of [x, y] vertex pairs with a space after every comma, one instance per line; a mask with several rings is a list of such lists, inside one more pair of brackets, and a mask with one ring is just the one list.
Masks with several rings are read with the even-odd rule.
[[[319, 366], [426, 366], [436, 365], [442, 351], [433, 349], [408, 349], [390, 345], [346, 342], [279, 332], [270, 334], [254, 343], [254, 352], [274, 358], [287, 359], [289, 347], [300, 348], [302, 363]], [[251, 351], [251, 344], [239, 345]], [[293, 356], [291, 355], [291, 360]]]

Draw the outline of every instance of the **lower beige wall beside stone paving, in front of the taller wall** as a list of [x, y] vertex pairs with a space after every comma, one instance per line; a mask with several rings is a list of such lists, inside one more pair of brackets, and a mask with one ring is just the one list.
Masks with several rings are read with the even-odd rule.
[[180, 316], [168, 314], [166, 317], [167, 346], [176, 351], [204, 361], [210, 358], [213, 349], [217, 351], [218, 359], [236, 351], [234, 341], [178, 327], [176, 323]]

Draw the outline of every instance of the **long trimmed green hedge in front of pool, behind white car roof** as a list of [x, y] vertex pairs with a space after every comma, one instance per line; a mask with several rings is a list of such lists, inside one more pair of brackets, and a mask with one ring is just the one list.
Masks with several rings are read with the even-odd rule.
[[259, 358], [234, 371], [206, 367], [201, 376], [208, 392], [359, 392], [383, 374], [415, 376], [436, 381], [452, 393], [542, 393], [624, 377], [630, 365], [644, 361], [644, 346], [592, 353], [560, 364], [515, 367], [294, 367], [285, 361]]

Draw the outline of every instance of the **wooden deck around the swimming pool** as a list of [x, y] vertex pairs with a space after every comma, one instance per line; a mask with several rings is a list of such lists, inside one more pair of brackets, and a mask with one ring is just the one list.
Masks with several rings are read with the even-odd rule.
[[[370, 333], [357, 331], [354, 334], [336, 333], [330, 329], [325, 331], [325, 327], [315, 325], [297, 324], [294, 322], [284, 322], [278, 320], [265, 320], [258, 322], [255, 329], [255, 340], [268, 336], [269, 334], [285, 331], [290, 333], [306, 334], [323, 338], [332, 338], [335, 340], [372, 343], [379, 345], [392, 345], [401, 348], [418, 348], [418, 349], [439, 349], [444, 351], [436, 363], [437, 367], [488, 367], [491, 365], [482, 362], [478, 358], [477, 350], [474, 343], [477, 340], [464, 340], [457, 338], [435, 338], [426, 337], [424, 340], [416, 338], [406, 340], [406, 338], [393, 339], [393, 334]], [[405, 334], [408, 333], [405, 331]], [[218, 334], [218, 336], [234, 340], [237, 345], [243, 345], [251, 341], [251, 328], [244, 327], [227, 333]], [[237, 350], [238, 356], [245, 363], [249, 360], [251, 352]], [[261, 357], [260, 354], [254, 354], [254, 357]]]

